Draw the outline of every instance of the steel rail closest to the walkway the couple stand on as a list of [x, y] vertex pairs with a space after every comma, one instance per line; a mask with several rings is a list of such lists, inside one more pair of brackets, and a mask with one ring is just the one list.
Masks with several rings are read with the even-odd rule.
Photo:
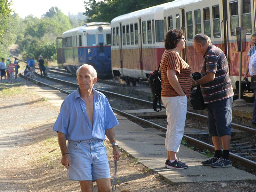
[[[26, 77], [26, 76], [23, 76], [21, 73], [20, 73], [20, 77], [22, 77], [22, 78], [24, 78], [24, 79], [28, 79], [28, 80], [35, 81], [37, 84], [49, 86], [49, 87], [51, 87], [51, 88], [53, 88], [53, 89], [55, 89], [55, 90], [59, 90], [60, 92], [63, 92], [63, 93], [66, 93], [66, 94], [70, 94], [70, 93], [71, 93], [71, 92], [65, 91], [65, 90], [63, 90], [63, 89], [54, 87], [54, 86], [52, 86], [52, 85], [49, 85], [49, 84], [46, 84], [46, 83], [37, 81], [36, 79], [28, 78], [28, 77]], [[112, 92], [108, 92], [108, 93], [112, 93]], [[140, 99], [138, 99], [138, 100], [140, 100]], [[145, 119], [142, 119], [142, 118], [140, 118], [140, 117], [131, 115], [131, 114], [129, 114], [129, 113], [126, 113], [126, 112], [124, 112], [124, 111], [118, 110], [118, 109], [116, 109], [116, 108], [112, 108], [112, 109], [113, 109], [114, 111], [118, 112], [118, 113], [121, 113], [121, 114], [125, 115], [125, 116], [129, 116], [129, 117], [134, 118], [134, 119], [136, 119], [136, 120], [139, 120], [139, 121], [141, 121], [141, 122], [143, 122], [143, 123], [150, 124], [150, 125], [152, 125], [153, 127], [156, 127], [156, 128], [158, 128], [158, 129], [165, 130], [165, 131], [167, 130], [166, 127], [161, 126], [161, 125], [159, 125], [159, 124], [155, 124], [155, 123], [153, 123], [153, 122], [150, 122], [150, 121], [145, 120]], [[205, 149], [214, 150], [214, 146], [212, 146], [212, 145], [210, 145], [210, 144], [208, 144], [208, 143], [205, 143], [205, 142], [203, 142], [203, 141], [194, 139], [194, 138], [189, 137], [189, 136], [184, 135], [184, 134], [183, 134], [183, 137], [186, 138], [189, 142], [196, 144], [197, 146], [204, 147]], [[241, 165], [244, 165], [244, 166], [246, 166], [246, 167], [250, 167], [250, 168], [253, 168], [253, 169], [256, 168], [256, 162], [254, 162], [254, 161], [252, 161], [252, 160], [246, 159], [246, 158], [244, 158], [244, 157], [238, 156], [238, 155], [233, 154], [233, 153], [230, 153], [229, 156], [230, 156], [230, 159], [231, 159], [231, 160], [234, 160], [234, 161], [236, 161], [236, 162], [240, 162]]]

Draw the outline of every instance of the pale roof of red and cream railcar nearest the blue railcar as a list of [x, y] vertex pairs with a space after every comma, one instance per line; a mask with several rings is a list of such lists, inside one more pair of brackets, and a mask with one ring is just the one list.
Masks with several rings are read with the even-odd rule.
[[163, 11], [164, 7], [167, 6], [170, 3], [171, 2], [156, 5], [156, 6], [153, 6], [153, 7], [148, 7], [146, 9], [142, 9], [142, 10], [139, 10], [139, 11], [127, 13], [127, 14], [124, 14], [124, 15], [120, 15], [120, 16], [114, 18], [113, 20], [111, 20], [110, 23], [121, 22], [121, 21], [124, 21], [124, 20], [130, 20], [130, 19], [134, 19], [134, 18], [140, 18], [141, 15], [163, 14], [162, 11]]

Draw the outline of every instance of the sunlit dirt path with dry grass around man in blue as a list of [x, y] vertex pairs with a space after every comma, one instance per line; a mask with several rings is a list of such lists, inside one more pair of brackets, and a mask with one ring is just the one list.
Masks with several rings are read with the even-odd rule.
[[[77, 181], [69, 181], [67, 170], [60, 164], [61, 153], [52, 126], [59, 108], [47, 98], [29, 91], [23, 80], [14, 85], [0, 83], [0, 191], [1, 192], [76, 192]], [[13, 86], [13, 87], [12, 87]], [[110, 166], [113, 166], [111, 147], [106, 143]], [[171, 186], [136, 162], [125, 152], [118, 162], [117, 192], [167, 191], [256, 191], [248, 183], [220, 182], [190, 183]], [[111, 176], [114, 170], [111, 169]], [[94, 188], [97, 191], [97, 187]]]

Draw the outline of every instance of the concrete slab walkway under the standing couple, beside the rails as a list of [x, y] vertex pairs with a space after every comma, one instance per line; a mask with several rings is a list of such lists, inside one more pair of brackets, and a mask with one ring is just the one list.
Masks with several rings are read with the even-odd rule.
[[[33, 86], [29, 87], [29, 89], [48, 98], [50, 103], [59, 108], [63, 99], [67, 96], [64, 93], [46, 87]], [[165, 139], [160, 136], [164, 133], [154, 128], [142, 128], [123, 116], [116, 116], [120, 123], [119, 126], [114, 128], [119, 146], [131, 156], [137, 158], [138, 162], [163, 176], [168, 183], [180, 184], [185, 182], [231, 180], [256, 182], [255, 175], [234, 167], [220, 170], [203, 166], [201, 165], [201, 161], [207, 158], [184, 146], [180, 146], [180, 152], [177, 155], [181, 161], [188, 164], [188, 169], [167, 169], [164, 167], [166, 160], [166, 150], [164, 149]]]

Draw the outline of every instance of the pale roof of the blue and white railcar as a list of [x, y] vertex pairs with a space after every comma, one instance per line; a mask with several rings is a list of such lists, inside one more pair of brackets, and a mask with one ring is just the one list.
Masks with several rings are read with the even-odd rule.
[[76, 28], [72, 28], [69, 29], [67, 31], [65, 31], [64, 33], [62, 33], [62, 37], [68, 37], [68, 36], [73, 36], [74, 33], [84, 33], [84, 31], [86, 32], [92, 32], [93, 30], [96, 30], [97, 28], [99, 28], [99, 26], [101, 26], [103, 28], [103, 30], [106, 29], [110, 29], [110, 23], [107, 22], [91, 22], [91, 23], [86, 23], [83, 26], [79, 26]]

